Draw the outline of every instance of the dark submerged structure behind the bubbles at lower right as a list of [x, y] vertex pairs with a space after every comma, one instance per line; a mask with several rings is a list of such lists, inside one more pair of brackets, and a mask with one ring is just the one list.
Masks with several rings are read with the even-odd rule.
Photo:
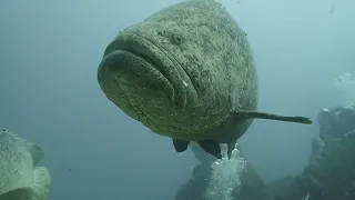
[[[241, 183], [231, 200], [351, 200], [355, 199], [355, 106], [318, 112], [320, 140], [313, 139], [312, 154], [303, 172], [264, 183], [245, 160]], [[205, 196], [216, 160], [191, 146], [201, 164], [183, 184], [175, 200], [209, 200]], [[215, 198], [213, 198], [215, 199]], [[221, 197], [222, 200], [222, 197]]]

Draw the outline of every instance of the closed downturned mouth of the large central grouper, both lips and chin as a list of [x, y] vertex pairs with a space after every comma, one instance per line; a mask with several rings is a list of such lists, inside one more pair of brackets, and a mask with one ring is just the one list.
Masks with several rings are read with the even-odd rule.
[[175, 129], [168, 128], [176, 120], [172, 116], [194, 99], [183, 68], [154, 42], [128, 31], [108, 46], [98, 81], [113, 103], [156, 133]]

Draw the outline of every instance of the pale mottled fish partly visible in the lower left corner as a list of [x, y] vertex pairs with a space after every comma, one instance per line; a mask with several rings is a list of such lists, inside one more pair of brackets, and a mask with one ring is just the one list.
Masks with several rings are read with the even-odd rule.
[[51, 182], [40, 146], [0, 130], [0, 200], [48, 200]]

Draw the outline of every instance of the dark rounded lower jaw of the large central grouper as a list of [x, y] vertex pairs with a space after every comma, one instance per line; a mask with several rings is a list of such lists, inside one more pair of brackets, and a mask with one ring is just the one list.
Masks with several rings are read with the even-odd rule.
[[126, 114], [142, 120], [156, 107], [171, 107], [174, 88], [153, 63], [132, 52], [116, 50], [106, 54], [98, 70], [105, 96]]

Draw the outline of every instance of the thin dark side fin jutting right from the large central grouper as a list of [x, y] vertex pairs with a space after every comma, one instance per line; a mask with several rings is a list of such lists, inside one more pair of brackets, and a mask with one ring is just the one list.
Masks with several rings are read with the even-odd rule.
[[278, 116], [278, 114], [257, 112], [257, 111], [237, 111], [235, 112], [235, 117], [239, 119], [268, 119], [268, 120], [312, 124], [312, 120], [305, 117]]

